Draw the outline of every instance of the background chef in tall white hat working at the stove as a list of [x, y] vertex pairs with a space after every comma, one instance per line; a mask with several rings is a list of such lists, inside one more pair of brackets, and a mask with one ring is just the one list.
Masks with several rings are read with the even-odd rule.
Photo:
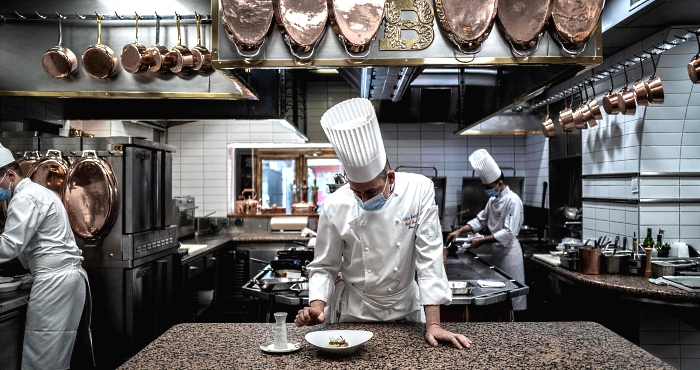
[[[479, 212], [476, 218], [462, 228], [451, 232], [447, 236], [447, 242], [453, 241], [462, 233], [477, 232], [488, 227], [491, 230], [491, 235], [472, 239], [470, 248], [492, 243], [491, 258], [493, 264], [505, 271], [511, 278], [524, 283], [523, 251], [520, 248], [520, 242], [518, 242], [518, 233], [523, 225], [523, 202], [503, 183], [503, 172], [485, 149], [474, 151], [469, 156], [469, 162], [481, 178], [489, 201], [486, 203], [486, 208]], [[513, 311], [525, 308], [527, 308], [525, 296], [513, 299]]]

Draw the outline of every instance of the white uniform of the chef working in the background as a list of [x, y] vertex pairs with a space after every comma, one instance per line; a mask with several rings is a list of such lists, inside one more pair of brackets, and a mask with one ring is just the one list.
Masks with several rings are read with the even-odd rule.
[[[518, 241], [518, 233], [523, 226], [523, 202], [506, 186], [498, 197], [492, 197], [484, 210], [467, 223], [477, 232], [488, 227], [496, 239], [491, 249], [493, 264], [505, 271], [520, 283], [525, 282], [523, 251]], [[513, 299], [513, 310], [527, 308], [525, 296]]]

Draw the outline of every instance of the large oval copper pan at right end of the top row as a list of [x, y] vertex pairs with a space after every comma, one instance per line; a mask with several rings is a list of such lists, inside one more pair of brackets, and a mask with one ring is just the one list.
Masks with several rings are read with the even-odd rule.
[[551, 34], [567, 55], [583, 53], [604, 5], [605, 0], [554, 0]]

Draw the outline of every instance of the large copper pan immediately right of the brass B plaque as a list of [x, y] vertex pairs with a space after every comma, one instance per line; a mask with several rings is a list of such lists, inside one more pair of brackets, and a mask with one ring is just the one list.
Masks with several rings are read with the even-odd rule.
[[435, 9], [447, 37], [464, 54], [481, 51], [498, 12], [498, 0], [435, 0]]

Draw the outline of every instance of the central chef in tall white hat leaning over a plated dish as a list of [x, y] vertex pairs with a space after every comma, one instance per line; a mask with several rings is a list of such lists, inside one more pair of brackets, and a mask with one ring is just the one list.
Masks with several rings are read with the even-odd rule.
[[369, 100], [334, 106], [321, 126], [349, 181], [323, 202], [307, 266], [310, 306], [299, 310], [296, 325], [425, 322], [430, 345], [470, 347], [440, 326], [440, 305], [452, 292], [432, 181], [390, 169]]

